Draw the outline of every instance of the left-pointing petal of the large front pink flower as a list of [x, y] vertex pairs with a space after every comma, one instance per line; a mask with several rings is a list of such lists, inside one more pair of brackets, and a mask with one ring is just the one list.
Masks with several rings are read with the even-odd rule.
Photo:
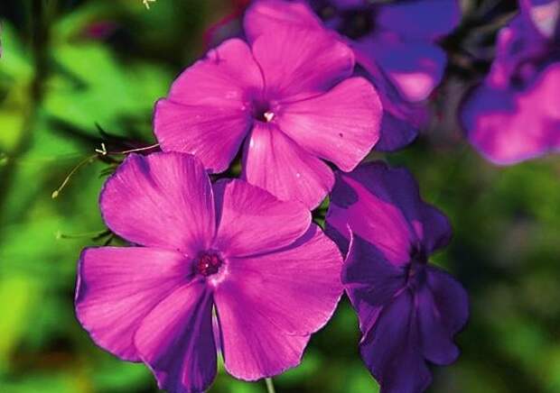
[[191, 279], [190, 260], [176, 251], [143, 247], [90, 248], [78, 266], [76, 314], [95, 343], [139, 361], [134, 334], [146, 315]]

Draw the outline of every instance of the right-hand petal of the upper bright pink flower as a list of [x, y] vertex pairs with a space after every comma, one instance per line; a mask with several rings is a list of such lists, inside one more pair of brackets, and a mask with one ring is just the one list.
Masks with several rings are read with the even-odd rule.
[[375, 88], [350, 78], [324, 95], [285, 105], [278, 126], [306, 151], [349, 171], [378, 142], [381, 116]]

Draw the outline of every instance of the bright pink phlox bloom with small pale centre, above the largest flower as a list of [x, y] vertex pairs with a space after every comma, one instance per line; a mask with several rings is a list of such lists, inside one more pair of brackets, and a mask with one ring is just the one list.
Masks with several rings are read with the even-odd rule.
[[[250, 26], [251, 23], [247, 23]], [[318, 206], [332, 170], [354, 169], [378, 142], [381, 104], [333, 33], [289, 23], [224, 41], [182, 72], [155, 107], [163, 151], [221, 172], [244, 140], [242, 177], [283, 200]]]

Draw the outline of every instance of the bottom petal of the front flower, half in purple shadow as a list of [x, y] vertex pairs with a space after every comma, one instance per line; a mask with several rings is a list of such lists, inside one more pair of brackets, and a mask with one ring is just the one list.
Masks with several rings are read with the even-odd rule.
[[135, 334], [143, 361], [159, 388], [203, 392], [216, 376], [212, 298], [203, 281], [177, 288], [152, 312]]

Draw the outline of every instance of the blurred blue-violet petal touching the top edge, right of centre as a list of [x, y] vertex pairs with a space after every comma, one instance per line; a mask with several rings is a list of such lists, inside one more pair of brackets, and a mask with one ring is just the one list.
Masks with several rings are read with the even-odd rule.
[[421, 0], [381, 5], [378, 25], [412, 40], [434, 40], [451, 32], [461, 19], [458, 0]]

